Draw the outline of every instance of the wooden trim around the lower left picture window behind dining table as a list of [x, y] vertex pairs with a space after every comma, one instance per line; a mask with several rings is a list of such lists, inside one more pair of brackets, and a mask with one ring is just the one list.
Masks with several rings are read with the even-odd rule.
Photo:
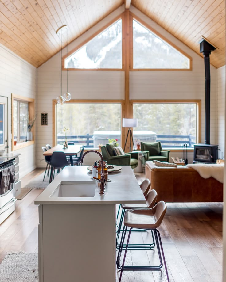
[[[123, 115], [125, 112], [125, 100], [75, 100], [71, 99], [70, 101], [67, 101], [65, 103], [100, 103], [100, 104], [105, 104], [105, 103], [115, 103], [115, 104], [121, 104], [121, 142], [124, 142], [122, 140], [122, 132], [123, 132], [123, 127], [122, 127], [122, 120], [123, 120]], [[56, 134], [56, 105], [57, 105], [57, 100], [53, 99], [53, 147], [56, 146], [57, 144], [57, 134]], [[88, 149], [90, 150], [90, 149]], [[100, 151], [100, 150], [97, 150]]]

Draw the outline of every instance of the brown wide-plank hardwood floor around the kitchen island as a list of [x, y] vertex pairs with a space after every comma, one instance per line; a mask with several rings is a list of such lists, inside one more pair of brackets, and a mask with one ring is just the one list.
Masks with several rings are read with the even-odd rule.
[[[26, 185], [42, 173], [36, 169], [21, 182]], [[143, 173], [136, 173], [138, 182]], [[0, 263], [7, 252], [37, 252], [38, 207], [34, 200], [43, 189], [33, 189], [16, 202], [14, 211], [0, 225]], [[167, 212], [159, 228], [165, 251], [170, 281], [220, 282], [222, 280], [222, 212], [223, 203], [167, 203]], [[134, 233], [133, 242], [148, 242], [148, 232]], [[157, 252], [152, 250], [128, 251], [127, 264], [153, 265]], [[158, 261], [157, 261], [158, 262]], [[120, 272], [117, 272], [119, 277]], [[95, 281], [95, 280], [94, 280]], [[124, 271], [123, 282], [162, 282], [165, 270]]]

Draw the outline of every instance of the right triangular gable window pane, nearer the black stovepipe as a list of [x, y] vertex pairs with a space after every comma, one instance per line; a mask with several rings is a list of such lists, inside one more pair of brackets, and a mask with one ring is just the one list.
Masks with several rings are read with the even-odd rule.
[[189, 67], [189, 58], [133, 20], [134, 69], [189, 69]]

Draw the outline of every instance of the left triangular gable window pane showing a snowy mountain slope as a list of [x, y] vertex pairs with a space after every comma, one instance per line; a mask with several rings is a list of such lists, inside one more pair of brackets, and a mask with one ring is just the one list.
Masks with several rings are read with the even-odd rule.
[[121, 69], [122, 20], [116, 21], [68, 56], [64, 68]]

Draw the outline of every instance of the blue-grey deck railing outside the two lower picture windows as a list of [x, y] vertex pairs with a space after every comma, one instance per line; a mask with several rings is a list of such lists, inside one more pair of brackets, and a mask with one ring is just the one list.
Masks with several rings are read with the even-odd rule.
[[[112, 136], [111, 136], [112, 138]], [[57, 136], [57, 144], [64, 143], [65, 136]], [[68, 142], [73, 142], [75, 145], [85, 145], [86, 148], [93, 148], [93, 135], [70, 135], [67, 136]], [[141, 140], [142, 141], [142, 140]], [[183, 143], [187, 143], [188, 148], [192, 148], [195, 144], [195, 137], [192, 135], [156, 135], [156, 141], [161, 141], [162, 147], [178, 148], [182, 147]], [[148, 141], [147, 141], [148, 142]], [[154, 141], [153, 141], [154, 142]]]

